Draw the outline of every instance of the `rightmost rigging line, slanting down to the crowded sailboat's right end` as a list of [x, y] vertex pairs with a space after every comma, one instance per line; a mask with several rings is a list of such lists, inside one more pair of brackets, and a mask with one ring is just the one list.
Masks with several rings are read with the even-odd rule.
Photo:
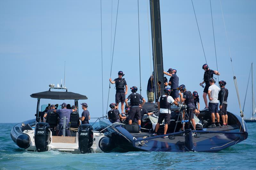
[[[228, 34], [227, 34], [226, 25], [225, 25], [225, 20], [224, 20], [224, 15], [223, 15], [223, 10], [222, 10], [221, 1], [220, 1], [220, 9], [221, 9], [222, 19], [223, 19], [223, 23], [224, 23], [225, 32], [226, 32], [226, 38], [227, 38], [227, 42], [228, 42]], [[238, 104], [239, 104], [239, 108], [240, 108], [240, 114], [241, 114], [241, 117], [242, 117], [242, 124], [243, 124], [243, 128], [244, 128], [244, 131], [245, 131], [245, 126], [244, 126], [244, 112], [241, 110], [240, 96], [239, 96], [239, 91], [238, 91], [238, 86], [237, 86], [237, 80], [236, 80], [236, 76], [235, 76], [235, 71], [234, 71], [234, 67], [233, 67], [232, 57], [231, 57], [231, 53], [230, 53], [229, 43], [228, 43], [228, 50], [229, 50], [229, 56], [230, 56], [231, 66], [232, 66], [233, 75], [234, 75], [233, 79], [234, 79], [234, 84], [235, 84], [235, 88], [236, 88], [236, 95], [237, 95]]]

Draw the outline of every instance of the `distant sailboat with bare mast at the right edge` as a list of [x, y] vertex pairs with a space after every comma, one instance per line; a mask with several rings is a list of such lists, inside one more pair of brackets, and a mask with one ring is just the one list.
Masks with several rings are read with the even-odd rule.
[[[249, 84], [250, 74], [251, 74], [252, 70], [253, 70], [253, 67], [251, 65], [251, 70], [250, 70], [250, 73], [249, 73], [248, 84]], [[247, 89], [248, 89], [248, 84], [247, 84]], [[244, 104], [245, 104], [247, 89], [246, 89], [246, 93], [245, 93]], [[256, 122], [256, 104], [255, 104], [254, 93], [253, 93], [253, 71], [252, 71], [252, 117], [250, 119], [245, 119], [245, 122]]]

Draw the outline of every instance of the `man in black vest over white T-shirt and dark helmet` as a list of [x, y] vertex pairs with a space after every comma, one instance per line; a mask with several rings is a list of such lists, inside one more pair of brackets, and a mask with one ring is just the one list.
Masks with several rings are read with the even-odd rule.
[[[171, 121], [171, 104], [174, 103], [176, 106], [178, 106], [178, 103], [173, 100], [173, 98], [170, 95], [171, 89], [170, 88], [165, 88], [164, 89], [164, 95], [160, 97], [159, 102], [158, 102], [158, 110], [160, 111], [158, 121], [156, 124], [156, 129], [155, 133], [153, 134], [154, 136], [157, 135], [158, 128], [160, 124], [162, 124], [164, 120], [164, 134], [166, 134], [167, 129], [168, 129], [168, 124], [170, 124]], [[165, 136], [164, 138], [166, 138]]]

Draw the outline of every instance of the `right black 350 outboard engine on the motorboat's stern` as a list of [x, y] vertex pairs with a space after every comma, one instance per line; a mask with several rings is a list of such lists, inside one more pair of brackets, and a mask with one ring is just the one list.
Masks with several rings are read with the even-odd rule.
[[82, 124], [78, 128], [78, 146], [81, 153], [91, 153], [93, 144], [93, 128], [90, 124]]

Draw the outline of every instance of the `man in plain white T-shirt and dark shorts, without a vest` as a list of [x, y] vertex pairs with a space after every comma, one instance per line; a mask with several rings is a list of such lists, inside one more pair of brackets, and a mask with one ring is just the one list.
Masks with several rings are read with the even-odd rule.
[[[212, 124], [208, 127], [216, 127], [220, 126], [220, 115], [218, 113], [218, 94], [219, 94], [220, 88], [215, 85], [215, 80], [210, 80], [210, 87], [208, 89], [208, 97], [209, 97], [209, 112], [211, 113], [212, 117]], [[215, 125], [215, 114], [217, 117], [217, 123]]]

